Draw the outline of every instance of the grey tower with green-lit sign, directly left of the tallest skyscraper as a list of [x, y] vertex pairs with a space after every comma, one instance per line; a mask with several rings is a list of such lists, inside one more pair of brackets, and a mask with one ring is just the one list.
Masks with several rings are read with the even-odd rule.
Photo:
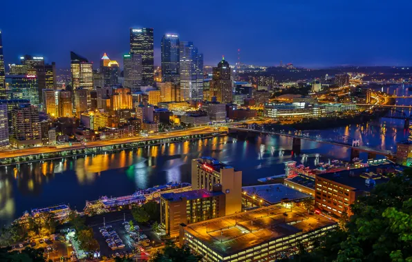
[[124, 54], [124, 87], [131, 92], [139, 91], [142, 85], [142, 54]]

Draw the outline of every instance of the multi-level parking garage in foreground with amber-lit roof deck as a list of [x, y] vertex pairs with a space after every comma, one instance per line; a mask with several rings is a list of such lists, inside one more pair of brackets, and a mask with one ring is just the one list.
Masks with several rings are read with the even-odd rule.
[[191, 225], [182, 223], [180, 244], [201, 254], [202, 261], [275, 261], [296, 254], [299, 243], [309, 243], [336, 226], [335, 221], [308, 215], [303, 208], [270, 205]]

